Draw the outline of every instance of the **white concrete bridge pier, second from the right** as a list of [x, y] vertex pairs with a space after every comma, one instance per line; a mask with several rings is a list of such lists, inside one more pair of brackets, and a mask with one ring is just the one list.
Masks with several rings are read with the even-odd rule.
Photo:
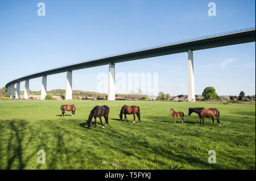
[[108, 100], [115, 100], [115, 64], [109, 64]]

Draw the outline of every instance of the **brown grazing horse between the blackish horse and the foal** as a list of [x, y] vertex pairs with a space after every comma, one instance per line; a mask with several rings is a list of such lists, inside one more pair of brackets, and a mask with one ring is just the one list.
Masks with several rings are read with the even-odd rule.
[[[136, 114], [139, 119], [139, 123], [141, 123], [141, 111], [139, 110], [139, 106], [123, 105], [119, 114], [120, 121], [122, 121], [123, 119], [123, 114], [125, 115], [126, 122], [128, 122], [126, 114], [128, 115], [133, 114], [133, 123], [135, 123], [135, 114]], [[125, 120], [123, 122], [125, 122]]]

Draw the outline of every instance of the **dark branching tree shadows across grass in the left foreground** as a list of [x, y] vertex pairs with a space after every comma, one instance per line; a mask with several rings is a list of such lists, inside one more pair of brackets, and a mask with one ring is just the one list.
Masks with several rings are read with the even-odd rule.
[[[7, 140], [7, 146], [6, 149], [1, 148], [0, 153], [3, 151], [6, 151], [7, 155], [7, 164], [5, 169], [15, 169], [14, 163], [18, 161], [18, 169], [25, 169], [27, 168], [27, 164], [30, 161], [31, 158], [35, 157], [37, 155], [37, 151], [40, 149], [43, 149], [46, 151], [46, 164], [47, 169], [77, 169], [77, 166], [73, 164], [76, 162], [76, 165], [79, 165], [81, 168], [84, 169], [86, 165], [84, 165], [84, 159], [81, 159], [81, 155], [84, 155], [84, 150], [82, 150], [78, 145], [71, 145], [70, 142], [65, 142], [64, 135], [70, 135], [72, 137], [80, 138], [81, 141], [86, 140], [87, 142], [93, 143], [96, 142], [96, 137], [105, 137], [110, 140], [123, 140], [127, 137], [127, 135], [130, 135], [130, 138], [134, 141], [134, 148], [126, 147], [126, 145], [122, 145], [122, 141], [120, 144], [113, 144], [113, 141], [107, 141], [107, 140], [101, 140], [99, 146], [104, 150], [115, 150], [117, 153], [121, 153], [123, 155], [126, 155], [127, 157], [134, 157], [138, 159], [138, 162], [141, 159], [148, 160], [149, 164], [157, 163], [158, 165], [163, 166], [166, 165], [166, 162], [168, 160], [175, 161], [177, 163], [181, 164], [191, 164], [195, 165], [196, 167], [201, 168], [208, 168], [211, 167], [212, 169], [223, 169], [220, 165], [212, 165], [209, 166], [209, 163], [207, 162], [207, 159], [204, 160], [203, 158], [197, 157], [197, 155], [192, 155], [191, 153], [174, 153], [174, 148], [170, 150], [170, 147], [168, 148], [166, 144], [156, 144], [153, 145], [148, 141], [142, 141], [139, 140], [138, 137], [132, 136], [130, 134], [130, 129], [127, 129], [126, 131], [117, 131], [115, 129], [106, 129], [99, 132], [90, 132], [93, 133], [94, 136], [85, 136], [84, 133], [76, 132], [76, 129], [81, 129], [80, 127], [84, 128], [86, 123], [80, 123], [77, 125], [77, 123], [71, 123], [68, 125], [61, 125], [56, 124], [55, 121], [52, 120], [41, 120], [38, 122], [38, 124], [42, 123], [43, 129], [46, 129], [48, 134], [40, 133], [42, 129], [40, 129], [40, 125], [37, 125], [39, 128], [31, 128], [28, 127], [28, 122], [25, 120], [5, 120], [0, 122], [0, 131], [6, 131], [6, 125], [8, 129], [10, 129], [10, 136], [9, 140]], [[57, 122], [59, 123], [59, 122]], [[79, 127], [80, 126], [80, 127]], [[24, 130], [28, 129], [28, 131], [23, 132]], [[62, 132], [65, 132], [63, 134]], [[49, 136], [52, 140], [52, 144], [48, 145], [47, 142], [47, 136]], [[24, 154], [24, 151], [27, 147], [23, 146], [24, 138], [29, 138], [28, 142], [31, 142], [31, 144], [35, 144], [33, 141], [40, 140], [40, 144], [36, 144], [35, 148], [31, 147], [32, 152], [30, 155], [26, 155], [26, 157], [22, 157]], [[32, 140], [32, 141], [31, 141]], [[3, 138], [0, 137], [0, 141], [2, 143]], [[38, 143], [38, 142], [36, 142]], [[69, 144], [69, 146], [72, 146], [71, 149], [66, 148], [66, 145]], [[127, 142], [127, 145], [129, 146], [130, 143]], [[84, 148], [86, 149], [86, 148]], [[133, 149], [136, 149], [137, 151], [133, 151]], [[14, 155], [10, 154], [13, 151]], [[154, 157], [150, 157], [147, 155], [155, 155]], [[39, 155], [38, 155], [39, 156]], [[50, 157], [51, 156], [51, 157]], [[87, 160], [95, 160], [94, 162], [100, 161], [102, 158], [100, 155], [97, 155], [96, 152], [91, 149], [87, 148], [86, 155], [84, 155]], [[26, 159], [25, 159], [26, 158]], [[72, 158], [72, 161], [71, 161]], [[74, 161], [75, 158], [75, 161]], [[114, 155], [110, 156], [109, 159], [114, 159]], [[159, 159], [160, 158], [160, 159]], [[163, 158], [163, 159], [162, 159]], [[3, 159], [3, 157], [0, 154], [0, 159]], [[134, 160], [135, 161], [135, 160]], [[33, 161], [34, 162], [34, 161]], [[36, 160], [35, 160], [36, 162]], [[66, 164], [66, 165], [64, 165]], [[43, 165], [37, 164], [36, 168], [40, 169]], [[95, 168], [98, 168], [98, 165], [95, 165]], [[124, 165], [126, 167], [126, 165]]]

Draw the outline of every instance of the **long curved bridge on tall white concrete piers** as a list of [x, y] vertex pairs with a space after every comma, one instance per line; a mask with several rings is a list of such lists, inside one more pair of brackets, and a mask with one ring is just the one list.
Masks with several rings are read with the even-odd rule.
[[[96, 60], [84, 61], [77, 64], [61, 66], [60, 68], [50, 69], [14, 79], [13, 81], [7, 83], [5, 87], [7, 88], [7, 92], [10, 93], [10, 98], [20, 99], [20, 82], [25, 81], [24, 98], [28, 99], [29, 80], [33, 78], [42, 77], [41, 99], [44, 100], [47, 90], [47, 75], [67, 72], [65, 99], [69, 100], [72, 99], [72, 71], [92, 68], [101, 65], [109, 65], [108, 100], [115, 100], [115, 64], [119, 62], [139, 60], [142, 58], [150, 58], [164, 56], [167, 54], [188, 52], [188, 101], [194, 102], [195, 79], [193, 68], [193, 51], [250, 42], [255, 42], [255, 27], [217, 33], [215, 35], [178, 41], [175, 43], [162, 45], [159, 47], [142, 49], [134, 52], [98, 58]], [[16, 91], [14, 92], [15, 85]]]

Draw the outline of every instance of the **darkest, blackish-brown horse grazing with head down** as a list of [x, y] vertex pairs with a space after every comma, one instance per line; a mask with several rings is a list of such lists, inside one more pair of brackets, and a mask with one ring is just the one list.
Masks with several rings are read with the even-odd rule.
[[95, 120], [95, 127], [96, 128], [96, 118], [100, 118], [100, 121], [101, 121], [101, 125], [102, 125], [102, 128], [104, 128], [104, 125], [102, 123], [102, 120], [101, 120], [101, 116], [104, 116], [105, 118], [105, 127], [106, 127], [106, 124], [109, 124], [109, 107], [104, 105], [104, 106], [95, 106], [93, 108], [92, 111], [90, 111], [90, 115], [89, 115], [89, 118], [88, 118], [88, 128], [91, 129], [92, 128], [92, 118], [94, 117], [94, 120]]

